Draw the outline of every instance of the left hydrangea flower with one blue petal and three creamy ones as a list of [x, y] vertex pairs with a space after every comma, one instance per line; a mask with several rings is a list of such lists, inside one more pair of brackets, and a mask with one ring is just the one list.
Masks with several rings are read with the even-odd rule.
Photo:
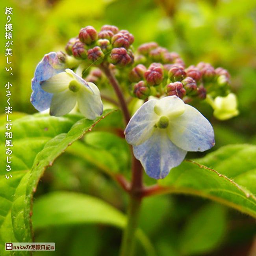
[[103, 111], [100, 91], [94, 83], [87, 83], [71, 69], [63, 69], [56, 53], [46, 54], [37, 65], [32, 80], [31, 102], [39, 111], [50, 108], [50, 115], [69, 113], [76, 102], [81, 113], [95, 119]]

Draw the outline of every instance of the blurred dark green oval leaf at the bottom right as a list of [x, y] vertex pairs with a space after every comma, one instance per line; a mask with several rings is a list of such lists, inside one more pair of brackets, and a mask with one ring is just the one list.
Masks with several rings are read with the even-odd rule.
[[210, 252], [221, 243], [226, 228], [226, 214], [219, 204], [206, 204], [190, 217], [180, 235], [182, 255]]

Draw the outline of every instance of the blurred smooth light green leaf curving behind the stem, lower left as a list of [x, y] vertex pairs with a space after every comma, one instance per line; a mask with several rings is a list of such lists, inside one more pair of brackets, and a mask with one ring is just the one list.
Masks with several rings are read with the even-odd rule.
[[[35, 201], [32, 222], [34, 228], [93, 223], [124, 228], [126, 216], [96, 197], [58, 191]], [[137, 237], [147, 255], [154, 255], [150, 241], [141, 230], [137, 231]]]

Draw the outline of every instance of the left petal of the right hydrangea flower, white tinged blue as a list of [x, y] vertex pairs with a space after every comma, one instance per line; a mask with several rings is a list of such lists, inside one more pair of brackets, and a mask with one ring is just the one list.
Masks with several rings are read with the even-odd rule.
[[132, 116], [124, 131], [129, 144], [140, 145], [152, 135], [153, 130], [156, 129], [154, 125], [159, 119], [154, 112], [157, 102], [158, 100], [148, 100]]

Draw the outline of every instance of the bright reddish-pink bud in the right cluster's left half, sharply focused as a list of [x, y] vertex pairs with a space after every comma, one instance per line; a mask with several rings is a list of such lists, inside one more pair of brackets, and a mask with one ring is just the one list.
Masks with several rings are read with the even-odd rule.
[[152, 63], [144, 73], [144, 77], [148, 85], [159, 85], [163, 81], [163, 66], [160, 63]]

